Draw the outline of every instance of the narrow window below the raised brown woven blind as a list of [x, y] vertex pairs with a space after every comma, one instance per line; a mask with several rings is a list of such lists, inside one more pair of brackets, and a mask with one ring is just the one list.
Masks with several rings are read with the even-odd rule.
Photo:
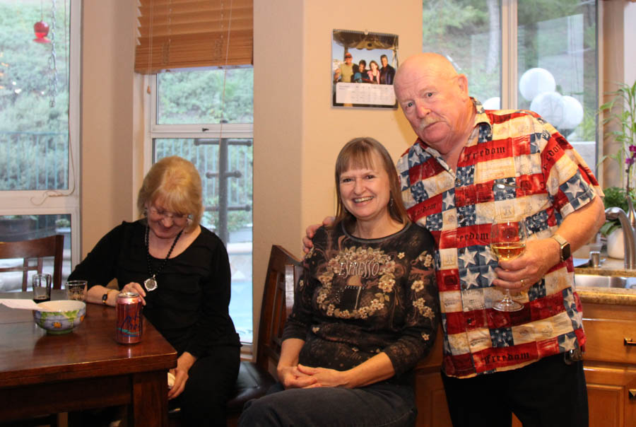
[[230, 316], [241, 341], [252, 342], [251, 66], [169, 71], [151, 80], [148, 152], [152, 161], [181, 156], [201, 174], [202, 225], [228, 249]]

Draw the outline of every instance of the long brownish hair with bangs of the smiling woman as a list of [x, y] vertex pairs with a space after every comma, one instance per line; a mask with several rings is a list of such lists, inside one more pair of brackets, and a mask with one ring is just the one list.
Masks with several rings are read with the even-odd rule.
[[[373, 164], [373, 153], [377, 154], [381, 164]], [[336, 209], [335, 224], [344, 221], [347, 230], [351, 230], [351, 226], [355, 223], [355, 216], [347, 211], [342, 202], [340, 175], [347, 170], [359, 168], [370, 169], [374, 166], [376, 168], [383, 168], [384, 171], [387, 172], [387, 175], [389, 175], [389, 216], [399, 223], [408, 223], [408, 214], [404, 208], [404, 203], [402, 203], [400, 180], [391, 155], [387, 151], [387, 148], [384, 148], [378, 141], [365, 136], [363, 138], [352, 139], [345, 144], [336, 159], [336, 194], [338, 196], [338, 207]]]

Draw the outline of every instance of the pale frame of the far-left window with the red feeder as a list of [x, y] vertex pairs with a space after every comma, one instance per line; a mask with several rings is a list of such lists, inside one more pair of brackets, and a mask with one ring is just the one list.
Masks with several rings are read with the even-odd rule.
[[[80, 93], [81, 0], [70, 0], [69, 47], [69, 189], [0, 191], [0, 216], [71, 216], [71, 269], [81, 259]], [[71, 191], [72, 189], [72, 191]]]

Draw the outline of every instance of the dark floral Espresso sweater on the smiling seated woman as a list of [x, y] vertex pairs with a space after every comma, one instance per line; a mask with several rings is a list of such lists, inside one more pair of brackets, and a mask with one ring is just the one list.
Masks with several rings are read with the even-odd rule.
[[432, 235], [413, 223], [386, 238], [319, 228], [295, 289], [283, 339], [305, 341], [303, 365], [348, 370], [384, 351], [395, 377], [435, 341], [438, 318]]

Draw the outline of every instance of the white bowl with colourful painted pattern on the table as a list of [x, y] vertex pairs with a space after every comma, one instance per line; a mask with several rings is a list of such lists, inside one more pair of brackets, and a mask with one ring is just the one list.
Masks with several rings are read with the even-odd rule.
[[33, 320], [49, 334], [68, 334], [86, 316], [86, 303], [83, 301], [56, 300], [37, 306], [42, 310], [33, 310]]

